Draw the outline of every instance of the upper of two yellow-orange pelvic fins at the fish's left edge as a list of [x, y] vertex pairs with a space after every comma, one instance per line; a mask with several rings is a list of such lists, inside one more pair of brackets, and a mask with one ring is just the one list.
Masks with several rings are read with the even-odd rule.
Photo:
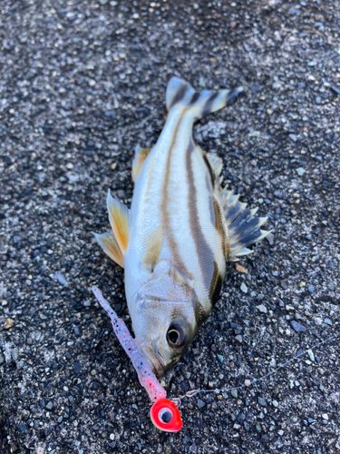
[[107, 194], [107, 209], [113, 236], [124, 255], [130, 236], [130, 210], [121, 202], [113, 199], [110, 190]]

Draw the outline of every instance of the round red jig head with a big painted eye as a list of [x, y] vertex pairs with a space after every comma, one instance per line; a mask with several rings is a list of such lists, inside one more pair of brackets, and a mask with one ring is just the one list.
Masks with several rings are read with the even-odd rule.
[[165, 432], [178, 432], [183, 425], [180, 410], [172, 400], [157, 400], [151, 407], [150, 416], [154, 426]]

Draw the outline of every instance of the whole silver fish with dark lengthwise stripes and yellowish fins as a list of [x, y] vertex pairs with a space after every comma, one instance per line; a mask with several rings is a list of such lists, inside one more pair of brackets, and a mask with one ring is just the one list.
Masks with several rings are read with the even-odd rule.
[[227, 263], [253, 251], [269, 232], [267, 217], [222, 187], [222, 159], [193, 138], [193, 125], [238, 97], [243, 88], [202, 92], [172, 77], [167, 120], [151, 149], [137, 145], [131, 208], [114, 199], [111, 230], [94, 233], [124, 268], [136, 344], [161, 377], [176, 364], [219, 301]]

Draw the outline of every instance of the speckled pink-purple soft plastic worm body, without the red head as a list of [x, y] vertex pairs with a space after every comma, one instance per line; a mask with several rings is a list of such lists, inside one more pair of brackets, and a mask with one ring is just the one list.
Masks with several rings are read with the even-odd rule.
[[93, 286], [92, 291], [94, 296], [97, 298], [102, 308], [108, 313], [112, 321], [113, 331], [116, 333], [118, 341], [121, 342], [122, 348], [126, 351], [130, 357], [133, 367], [138, 374], [141, 386], [147, 390], [152, 402], [156, 400], [165, 399], [167, 396], [166, 390], [162, 388], [160, 382], [151, 370], [151, 366], [148, 360], [144, 358], [141, 350], [138, 348], [136, 341], [132, 338], [127, 326], [122, 319], [118, 318], [118, 315], [113, 311], [109, 302], [102, 296], [102, 291], [97, 287]]

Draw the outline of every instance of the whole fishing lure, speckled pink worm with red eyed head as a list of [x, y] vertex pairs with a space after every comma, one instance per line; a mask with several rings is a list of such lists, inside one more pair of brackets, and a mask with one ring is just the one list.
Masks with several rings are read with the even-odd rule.
[[153, 424], [158, 429], [167, 432], [179, 431], [183, 425], [180, 419], [180, 410], [172, 400], [166, 399], [167, 391], [160, 385], [160, 382], [152, 372], [149, 361], [146, 360], [141, 349], [138, 348], [136, 341], [132, 338], [124, 321], [118, 318], [117, 313], [113, 311], [109, 302], [102, 296], [102, 291], [93, 286], [92, 292], [101, 304], [102, 309], [111, 318], [113, 331], [118, 341], [121, 342], [121, 347], [131, 359], [141, 386], [147, 390], [151, 401], [154, 402], [151, 407], [151, 420]]

